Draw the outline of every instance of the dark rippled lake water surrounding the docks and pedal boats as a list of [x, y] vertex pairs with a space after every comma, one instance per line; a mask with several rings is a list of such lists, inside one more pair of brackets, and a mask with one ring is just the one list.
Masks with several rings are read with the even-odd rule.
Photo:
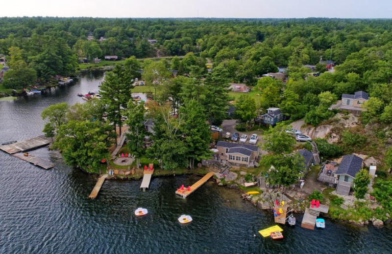
[[[102, 71], [83, 72], [72, 85], [42, 95], [0, 102], [0, 143], [42, 135], [41, 112], [49, 105], [83, 102], [76, 94], [98, 90]], [[0, 151], [0, 254], [388, 254], [391, 228], [360, 228], [326, 220], [324, 230], [283, 226], [284, 239], [263, 238], [273, 214], [241, 200], [240, 193], [208, 182], [187, 199], [175, 188], [200, 177], [106, 181], [98, 198], [88, 198], [97, 176], [64, 164], [48, 148], [30, 152], [56, 167], [44, 170]], [[231, 203], [226, 204], [225, 200]], [[136, 218], [138, 207], [149, 214]], [[193, 222], [177, 218], [189, 214]], [[302, 215], [297, 215], [297, 224]], [[254, 236], [256, 235], [256, 237]]]

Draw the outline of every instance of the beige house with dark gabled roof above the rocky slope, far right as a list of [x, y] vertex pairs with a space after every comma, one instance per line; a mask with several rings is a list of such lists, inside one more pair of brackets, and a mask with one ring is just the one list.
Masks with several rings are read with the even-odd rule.
[[332, 109], [341, 109], [348, 110], [353, 114], [360, 114], [362, 111], [366, 111], [366, 108], [362, 107], [363, 104], [369, 100], [369, 96], [367, 92], [358, 91], [354, 94], [342, 94], [342, 100], [338, 101], [337, 104], [334, 104], [329, 107]]

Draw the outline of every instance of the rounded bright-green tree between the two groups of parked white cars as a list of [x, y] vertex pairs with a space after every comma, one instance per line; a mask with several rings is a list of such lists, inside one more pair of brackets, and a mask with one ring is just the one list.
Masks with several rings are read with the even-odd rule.
[[263, 149], [273, 153], [273, 154], [284, 154], [293, 151], [293, 145], [295, 140], [290, 134], [286, 133], [285, 130], [288, 129], [283, 123], [277, 123], [275, 127], [271, 127], [266, 132], [263, 144]]

